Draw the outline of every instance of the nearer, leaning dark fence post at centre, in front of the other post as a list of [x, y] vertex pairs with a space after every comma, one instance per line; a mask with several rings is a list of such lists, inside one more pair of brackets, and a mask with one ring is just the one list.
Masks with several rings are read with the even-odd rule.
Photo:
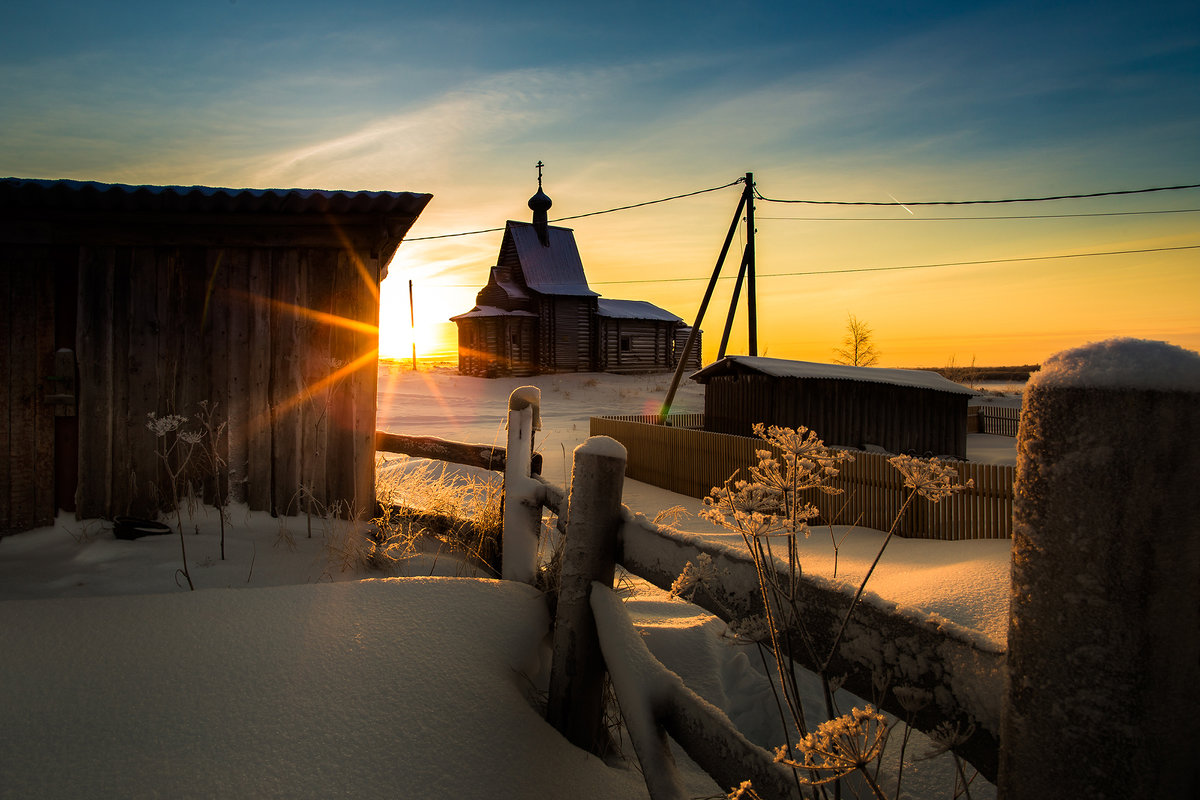
[[625, 447], [616, 439], [592, 437], [575, 449], [546, 720], [596, 753], [608, 745], [605, 663], [588, 595], [593, 581], [612, 585], [624, 480]]

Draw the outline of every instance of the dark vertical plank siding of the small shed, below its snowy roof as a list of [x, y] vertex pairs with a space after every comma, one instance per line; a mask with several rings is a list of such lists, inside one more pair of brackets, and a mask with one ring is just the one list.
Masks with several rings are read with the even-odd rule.
[[966, 458], [967, 396], [821, 378], [714, 375], [704, 386], [709, 431], [750, 435], [755, 422], [804, 426], [827, 444]]

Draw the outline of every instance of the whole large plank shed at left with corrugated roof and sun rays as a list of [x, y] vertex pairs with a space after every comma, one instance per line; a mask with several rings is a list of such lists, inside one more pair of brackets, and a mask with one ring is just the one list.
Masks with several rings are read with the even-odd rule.
[[0, 180], [0, 533], [155, 513], [148, 414], [202, 401], [234, 500], [373, 510], [379, 281], [430, 198]]

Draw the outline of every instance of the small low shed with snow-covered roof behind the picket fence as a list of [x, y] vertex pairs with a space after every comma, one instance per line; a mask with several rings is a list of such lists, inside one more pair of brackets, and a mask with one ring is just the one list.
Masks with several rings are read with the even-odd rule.
[[716, 433], [804, 426], [830, 445], [967, 455], [973, 392], [934, 372], [727, 356], [692, 379], [704, 385], [704, 428]]

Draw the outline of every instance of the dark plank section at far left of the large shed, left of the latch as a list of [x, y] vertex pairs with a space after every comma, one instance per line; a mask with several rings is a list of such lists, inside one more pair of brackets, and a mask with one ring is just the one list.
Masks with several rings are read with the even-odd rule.
[[[0, 255], [0, 534], [54, 522], [54, 270], [49, 248]], [[47, 465], [50, 465], [47, 468]]]

